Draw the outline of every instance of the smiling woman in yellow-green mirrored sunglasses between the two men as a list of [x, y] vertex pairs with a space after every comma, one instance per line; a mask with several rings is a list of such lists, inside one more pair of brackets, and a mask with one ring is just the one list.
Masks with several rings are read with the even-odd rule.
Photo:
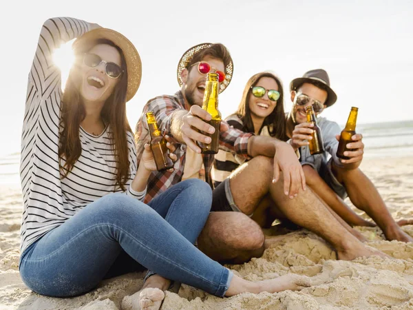
[[[257, 135], [273, 136], [286, 141], [284, 92], [282, 83], [271, 72], [257, 73], [248, 80], [237, 112], [226, 121], [234, 128]], [[215, 187], [240, 165], [229, 152], [220, 150], [215, 155], [212, 178]]]

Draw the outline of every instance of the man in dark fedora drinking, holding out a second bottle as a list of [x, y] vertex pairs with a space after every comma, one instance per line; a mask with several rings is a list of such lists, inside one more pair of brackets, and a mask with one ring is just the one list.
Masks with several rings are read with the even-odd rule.
[[[352, 151], [346, 154], [350, 159], [337, 157], [341, 128], [337, 123], [319, 116], [337, 101], [327, 72], [322, 69], [310, 70], [304, 76], [294, 79], [290, 83], [290, 94], [293, 107], [287, 116], [288, 142], [293, 149], [299, 149], [299, 160], [303, 165], [307, 185], [348, 224], [375, 226], [343, 202], [346, 196], [354, 206], [365, 211], [379, 225], [388, 240], [412, 242], [413, 238], [405, 234], [392, 218], [376, 187], [359, 169], [363, 159], [363, 136], [352, 136], [352, 143], [348, 145]], [[324, 154], [310, 154], [308, 139], [311, 138], [313, 125], [307, 123], [306, 107], [309, 105], [313, 105], [317, 125], [321, 129], [326, 149]]]

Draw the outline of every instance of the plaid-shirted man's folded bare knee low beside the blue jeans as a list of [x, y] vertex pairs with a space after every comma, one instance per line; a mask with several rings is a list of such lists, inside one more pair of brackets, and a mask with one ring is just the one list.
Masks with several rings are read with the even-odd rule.
[[198, 249], [213, 260], [242, 264], [264, 253], [264, 234], [240, 212], [211, 212], [198, 237]]

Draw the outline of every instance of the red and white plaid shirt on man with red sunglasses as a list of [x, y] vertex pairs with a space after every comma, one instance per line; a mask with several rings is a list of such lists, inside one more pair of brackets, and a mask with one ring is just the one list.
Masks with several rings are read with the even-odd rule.
[[[136, 124], [136, 144], [138, 161], [142, 156], [145, 143], [149, 143], [149, 131], [147, 129], [146, 112], [152, 111], [156, 117], [156, 121], [162, 134], [167, 134], [172, 137], [171, 134], [171, 120], [172, 113], [176, 110], [186, 110], [184, 96], [181, 91], [176, 92], [173, 96], [158, 96], [148, 101], [148, 103], [143, 107], [142, 115]], [[235, 130], [232, 127], [226, 132], [220, 133], [220, 149], [227, 152], [235, 152], [238, 155], [248, 157], [247, 145], [248, 138], [253, 136], [253, 134], [244, 133], [240, 130]], [[185, 154], [187, 153], [187, 145], [176, 143], [176, 157], [178, 160], [174, 165], [173, 172], [152, 172], [149, 176], [147, 184], [147, 196], [145, 202], [150, 201], [152, 198], [156, 197], [161, 192], [165, 192], [169, 187], [175, 185], [182, 180], [182, 175], [184, 174], [185, 166]], [[210, 185], [211, 181], [211, 168], [213, 165], [214, 156], [211, 154], [202, 154], [202, 159], [204, 161], [205, 167], [205, 179]]]

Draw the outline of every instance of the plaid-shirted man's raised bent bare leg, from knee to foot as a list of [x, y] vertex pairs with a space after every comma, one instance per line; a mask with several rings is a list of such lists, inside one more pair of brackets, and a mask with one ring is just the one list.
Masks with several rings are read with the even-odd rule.
[[230, 176], [230, 187], [235, 204], [245, 214], [251, 214], [262, 197], [269, 193], [277, 207], [293, 223], [315, 232], [330, 242], [337, 250], [339, 259], [385, 256], [380, 251], [366, 247], [352, 236], [310, 189], [305, 192], [301, 190], [296, 198], [290, 199], [284, 194], [283, 180], [274, 184], [272, 179], [272, 158], [258, 156], [240, 166]]

